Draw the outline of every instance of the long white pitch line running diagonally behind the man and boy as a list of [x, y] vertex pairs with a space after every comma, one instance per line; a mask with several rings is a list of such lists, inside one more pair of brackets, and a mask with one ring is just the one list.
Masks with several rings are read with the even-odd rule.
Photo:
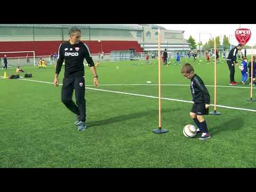
[[[35, 80], [31, 80], [31, 79], [20, 79], [20, 80], [23, 80], [23, 81], [32, 81], [32, 82], [39, 82], [39, 83], [54, 84], [54, 83], [50, 83], [50, 82], [35, 81]], [[62, 85], [62, 84], [59, 83], [59, 85]], [[87, 85], [86, 85], [86, 86], [87, 86]], [[105, 92], [111, 92], [111, 93], [119, 93], [119, 94], [128, 94], [128, 95], [135, 95], [135, 96], [140, 96], [140, 97], [147, 97], [147, 98], [155, 98], [155, 99], [158, 99], [158, 97], [150, 96], [150, 95], [126, 93], [126, 92], [120, 92], [120, 91], [109, 91], [109, 90], [95, 89], [95, 88], [89, 88], [89, 87], [85, 87], [85, 89], [97, 90], [97, 91], [105, 91]], [[193, 103], [193, 101], [186, 101], [186, 100], [180, 100], [180, 99], [170, 99], [170, 98], [161, 98], [161, 99], [170, 100], [170, 101], [180, 101], [180, 102]], [[214, 106], [214, 105], [211, 104], [211, 106]], [[222, 108], [228, 108], [228, 109], [237, 109], [237, 110], [245, 110], [245, 111], [253, 111], [253, 112], [256, 112], [256, 110], [253, 110], [253, 109], [229, 107], [229, 106], [222, 106], [222, 105], [216, 105], [216, 106], [217, 106], [217, 107], [222, 107]]]

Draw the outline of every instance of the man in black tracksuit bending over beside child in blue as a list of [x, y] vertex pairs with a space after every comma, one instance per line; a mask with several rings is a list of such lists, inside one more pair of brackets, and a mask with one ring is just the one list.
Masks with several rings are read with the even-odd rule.
[[242, 50], [243, 45], [238, 44], [236, 47], [230, 50], [227, 58], [228, 68], [230, 70], [230, 83], [229, 85], [237, 85], [235, 82], [235, 65], [238, 67], [238, 62], [236, 61], [236, 54], [238, 50]]

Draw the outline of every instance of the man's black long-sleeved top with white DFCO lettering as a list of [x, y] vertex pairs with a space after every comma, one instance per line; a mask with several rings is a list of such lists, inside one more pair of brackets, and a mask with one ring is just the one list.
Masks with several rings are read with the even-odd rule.
[[65, 77], [68, 75], [84, 76], [84, 58], [89, 67], [94, 66], [91, 53], [86, 44], [79, 42], [72, 45], [69, 41], [60, 44], [55, 73], [60, 73], [62, 63], [65, 60]]

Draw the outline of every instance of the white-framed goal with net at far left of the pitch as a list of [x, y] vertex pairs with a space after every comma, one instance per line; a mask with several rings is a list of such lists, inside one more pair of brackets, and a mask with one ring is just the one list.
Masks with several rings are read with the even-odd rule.
[[[9, 57], [8, 54], [11, 53], [11, 57]], [[1, 55], [1, 60], [3, 58], [3, 55], [6, 54], [7, 56], [7, 62], [8, 62], [8, 66], [12, 67], [12, 66], [20, 66], [23, 65], [23, 63], [27, 63], [30, 62], [29, 61], [29, 57], [27, 56], [20, 56], [20, 53], [33, 53], [33, 56], [29, 56], [30, 58], [32, 57], [34, 60], [34, 66], [36, 66], [36, 60], [35, 60], [35, 51], [14, 51], [14, 52], [0, 52]]]

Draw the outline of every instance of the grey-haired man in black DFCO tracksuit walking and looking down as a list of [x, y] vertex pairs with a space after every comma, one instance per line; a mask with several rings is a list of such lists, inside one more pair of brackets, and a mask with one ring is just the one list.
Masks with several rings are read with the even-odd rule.
[[[90, 51], [86, 44], [80, 42], [81, 30], [72, 27], [69, 30], [69, 41], [60, 44], [59, 57], [56, 66], [54, 84], [59, 85], [59, 73], [63, 60], [65, 60], [65, 74], [61, 90], [61, 101], [65, 106], [77, 115], [75, 125], [78, 131], [86, 128], [85, 120], [85, 85], [84, 85], [84, 58], [91, 68], [94, 76], [94, 85], [98, 85], [98, 75]], [[76, 104], [72, 100], [73, 90], [75, 89]]]

